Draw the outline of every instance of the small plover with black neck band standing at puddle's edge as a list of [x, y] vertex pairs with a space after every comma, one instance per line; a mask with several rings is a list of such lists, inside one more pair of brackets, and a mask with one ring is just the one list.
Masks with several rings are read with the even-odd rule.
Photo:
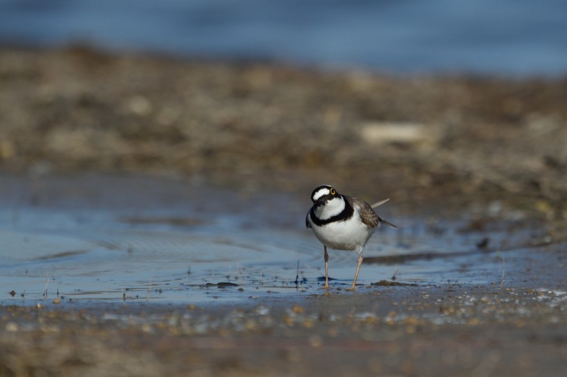
[[333, 186], [324, 184], [311, 193], [313, 206], [307, 213], [305, 225], [313, 229], [315, 237], [323, 244], [325, 256], [325, 289], [328, 289], [328, 253], [327, 247], [337, 250], [355, 250], [358, 252], [358, 266], [350, 291], [355, 290], [358, 272], [362, 264], [362, 249], [380, 224], [393, 229], [398, 226], [376, 215], [373, 208], [387, 202], [382, 200], [372, 206], [364, 200], [338, 193]]

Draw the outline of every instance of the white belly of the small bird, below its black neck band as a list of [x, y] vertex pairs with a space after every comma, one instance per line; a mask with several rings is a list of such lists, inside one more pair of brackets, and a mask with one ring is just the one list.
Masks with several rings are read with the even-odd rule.
[[362, 249], [374, 233], [374, 228], [369, 228], [357, 219], [358, 213], [355, 212], [351, 220], [311, 226], [317, 239], [325, 246], [337, 250], [357, 250]]

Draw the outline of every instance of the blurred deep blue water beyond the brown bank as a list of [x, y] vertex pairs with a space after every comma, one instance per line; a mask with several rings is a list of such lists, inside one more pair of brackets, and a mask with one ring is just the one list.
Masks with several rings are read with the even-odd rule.
[[0, 0], [0, 44], [396, 73], [564, 75], [567, 1]]

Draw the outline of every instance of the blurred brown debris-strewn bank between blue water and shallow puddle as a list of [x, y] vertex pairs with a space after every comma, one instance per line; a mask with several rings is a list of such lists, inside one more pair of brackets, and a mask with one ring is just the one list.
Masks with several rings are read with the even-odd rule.
[[301, 168], [404, 199], [541, 200], [540, 209], [564, 219], [566, 99], [565, 79], [389, 77], [3, 49], [0, 163], [176, 171], [236, 184], [264, 172], [288, 188], [298, 183], [281, 172]]

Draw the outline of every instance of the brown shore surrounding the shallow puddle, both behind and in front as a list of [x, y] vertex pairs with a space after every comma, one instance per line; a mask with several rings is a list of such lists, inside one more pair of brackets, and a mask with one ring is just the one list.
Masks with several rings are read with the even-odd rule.
[[332, 179], [410, 218], [476, 208], [468, 231], [552, 240], [510, 251], [500, 284], [3, 306], [0, 376], [560, 376], [566, 103], [566, 79], [0, 50], [3, 175], [135, 171], [297, 195]]

